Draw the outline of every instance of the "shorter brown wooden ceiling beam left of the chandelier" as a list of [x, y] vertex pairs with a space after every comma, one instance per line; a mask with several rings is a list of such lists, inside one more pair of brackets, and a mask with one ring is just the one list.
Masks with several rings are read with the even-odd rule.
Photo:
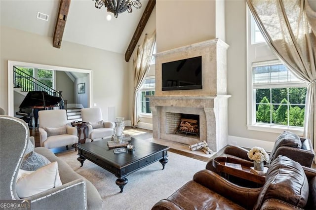
[[60, 0], [59, 11], [57, 15], [55, 32], [53, 37], [53, 46], [56, 48], [60, 48], [61, 45], [61, 40], [63, 38], [67, 15], [69, 11], [70, 1], [71, 0]]

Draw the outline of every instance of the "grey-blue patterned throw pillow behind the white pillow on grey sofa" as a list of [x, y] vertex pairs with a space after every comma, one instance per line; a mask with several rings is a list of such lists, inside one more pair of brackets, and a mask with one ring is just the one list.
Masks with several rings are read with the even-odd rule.
[[46, 157], [35, 151], [32, 151], [24, 156], [20, 169], [26, 171], [35, 171], [49, 163], [50, 161]]

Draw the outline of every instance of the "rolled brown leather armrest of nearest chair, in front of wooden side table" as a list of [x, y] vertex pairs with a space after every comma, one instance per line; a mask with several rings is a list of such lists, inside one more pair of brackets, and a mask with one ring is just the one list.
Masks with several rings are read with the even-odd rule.
[[238, 186], [209, 170], [197, 172], [193, 176], [193, 180], [246, 209], [253, 208], [262, 190], [262, 187]]

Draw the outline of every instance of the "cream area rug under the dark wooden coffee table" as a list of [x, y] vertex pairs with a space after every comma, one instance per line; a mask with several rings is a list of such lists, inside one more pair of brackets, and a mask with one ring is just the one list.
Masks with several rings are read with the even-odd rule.
[[115, 175], [89, 160], [85, 160], [80, 167], [77, 153], [68, 150], [56, 155], [92, 182], [103, 199], [104, 210], [150, 210], [159, 200], [169, 197], [192, 180], [193, 175], [206, 166], [206, 162], [168, 152], [169, 162], [164, 170], [158, 161], [128, 175], [128, 183], [119, 193]]

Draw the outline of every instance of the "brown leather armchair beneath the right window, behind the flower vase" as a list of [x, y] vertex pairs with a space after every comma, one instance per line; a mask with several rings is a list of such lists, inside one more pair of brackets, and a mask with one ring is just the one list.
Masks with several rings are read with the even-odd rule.
[[[228, 146], [224, 149], [223, 157], [232, 157], [239, 160], [246, 160], [253, 163], [248, 158], [248, 150], [239, 146]], [[315, 158], [315, 152], [311, 140], [300, 138], [296, 134], [288, 131], [281, 133], [275, 142], [275, 145], [269, 155], [270, 161], [265, 165], [269, 165], [278, 155], [289, 157], [290, 159], [300, 163], [302, 166], [311, 167]], [[213, 159], [206, 164], [206, 169], [217, 172], [213, 167]]]

